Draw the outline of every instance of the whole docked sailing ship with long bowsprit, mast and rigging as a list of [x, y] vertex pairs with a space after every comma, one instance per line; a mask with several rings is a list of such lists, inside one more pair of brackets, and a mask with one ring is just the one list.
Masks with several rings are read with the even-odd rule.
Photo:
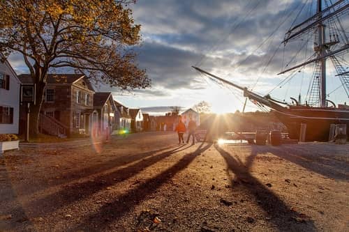
[[[328, 141], [331, 125], [346, 124], [349, 134], [349, 72], [342, 64], [346, 62], [343, 57], [348, 54], [349, 42], [346, 34], [349, 22], [348, 1], [339, 0], [316, 1], [315, 13], [303, 22], [292, 26], [283, 40], [288, 45], [292, 40], [302, 40], [302, 36], [309, 36], [313, 41], [313, 54], [302, 63], [296, 63], [292, 68], [285, 68], [278, 75], [287, 72], [297, 72], [306, 65], [313, 64], [313, 75], [309, 84], [306, 100], [301, 102], [301, 97], [291, 98], [292, 103], [286, 103], [272, 98], [271, 95], [260, 95], [244, 86], [232, 83], [226, 79], [213, 75], [201, 68], [193, 66], [195, 70], [216, 79], [223, 84], [228, 84], [244, 92], [244, 97], [249, 98], [257, 105], [262, 105], [274, 111], [279, 120], [288, 128], [291, 139], [299, 139], [301, 127], [306, 128], [305, 141]], [[344, 19], [344, 20], [340, 20]], [[346, 22], [343, 26], [342, 22]], [[346, 96], [342, 96], [342, 104], [336, 105], [328, 98], [327, 75], [328, 65], [336, 70], [334, 78], [340, 79], [341, 86]], [[305, 125], [305, 126], [304, 126]]]

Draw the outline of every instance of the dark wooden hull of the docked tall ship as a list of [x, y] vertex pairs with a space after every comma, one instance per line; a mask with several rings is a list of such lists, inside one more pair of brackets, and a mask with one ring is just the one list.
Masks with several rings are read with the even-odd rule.
[[348, 109], [295, 107], [274, 112], [288, 127], [291, 139], [299, 139], [302, 123], [306, 124], [306, 141], [328, 141], [331, 124], [346, 124], [349, 134]]

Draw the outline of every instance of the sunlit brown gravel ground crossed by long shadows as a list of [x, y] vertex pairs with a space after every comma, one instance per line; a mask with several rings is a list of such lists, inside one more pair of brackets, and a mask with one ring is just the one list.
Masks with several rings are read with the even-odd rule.
[[0, 157], [0, 231], [349, 231], [348, 180], [348, 144], [24, 146]]

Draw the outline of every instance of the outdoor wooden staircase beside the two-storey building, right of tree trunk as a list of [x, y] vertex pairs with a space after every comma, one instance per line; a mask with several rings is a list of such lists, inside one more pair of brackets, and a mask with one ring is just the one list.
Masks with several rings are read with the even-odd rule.
[[68, 127], [56, 118], [40, 114], [39, 129], [41, 133], [45, 132], [45, 134], [51, 134], [59, 138], [66, 138]]

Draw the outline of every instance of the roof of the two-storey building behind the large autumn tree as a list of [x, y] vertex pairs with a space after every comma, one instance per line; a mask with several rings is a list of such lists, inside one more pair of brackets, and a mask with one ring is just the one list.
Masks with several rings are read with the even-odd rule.
[[[33, 79], [29, 74], [18, 76], [22, 84], [33, 84]], [[84, 77], [82, 74], [48, 74], [47, 84], [74, 84], [78, 79]]]

